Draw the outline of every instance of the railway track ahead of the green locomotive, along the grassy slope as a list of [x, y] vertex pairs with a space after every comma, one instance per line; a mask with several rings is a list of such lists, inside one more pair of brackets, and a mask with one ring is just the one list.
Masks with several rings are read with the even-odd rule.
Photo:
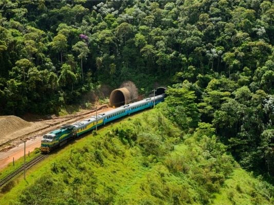
[[[47, 156], [48, 156], [47, 154], [40, 154], [40, 155], [36, 156], [31, 161], [29, 161], [29, 162], [26, 163], [26, 170], [29, 169], [29, 168], [31, 168], [33, 165], [35, 165], [39, 161], [43, 160]], [[1, 179], [0, 180], [0, 187], [3, 187], [4, 185], [6, 185], [6, 183], [9, 182], [13, 177], [15, 177], [17, 174], [19, 174], [19, 173], [21, 173], [23, 171], [24, 171], [24, 165], [22, 165], [19, 169], [15, 170], [14, 172], [12, 172], [11, 174], [9, 174], [5, 178]]]

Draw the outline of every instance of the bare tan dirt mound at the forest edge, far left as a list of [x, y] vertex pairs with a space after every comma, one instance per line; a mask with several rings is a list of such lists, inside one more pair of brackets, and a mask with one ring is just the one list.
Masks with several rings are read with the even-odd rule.
[[0, 117], [0, 128], [2, 135], [11, 134], [30, 125], [30, 122], [14, 115]]

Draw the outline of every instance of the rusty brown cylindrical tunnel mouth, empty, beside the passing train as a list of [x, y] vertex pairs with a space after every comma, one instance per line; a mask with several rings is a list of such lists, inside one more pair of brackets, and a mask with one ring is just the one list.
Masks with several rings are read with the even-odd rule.
[[119, 88], [112, 91], [111, 96], [109, 96], [109, 105], [111, 107], [120, 107], [125, 104], [130, 103], [131, 95], [130, 91], [126, 88]]

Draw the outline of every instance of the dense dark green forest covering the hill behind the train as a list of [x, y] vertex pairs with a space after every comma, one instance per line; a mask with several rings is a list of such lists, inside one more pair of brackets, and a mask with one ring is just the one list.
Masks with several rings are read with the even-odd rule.
[[101, 85], [169, 87], [163, 112], [274, 176], [274, 3], [1, 1], [0, 112], [54, 113]]

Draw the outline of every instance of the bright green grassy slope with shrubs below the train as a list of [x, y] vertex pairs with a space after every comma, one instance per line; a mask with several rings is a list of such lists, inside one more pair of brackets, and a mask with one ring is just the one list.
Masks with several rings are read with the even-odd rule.
[[127, 117], [50, 155], [0, 204], [273, 203], [205, 127], [186, 135], [159, 109]]

